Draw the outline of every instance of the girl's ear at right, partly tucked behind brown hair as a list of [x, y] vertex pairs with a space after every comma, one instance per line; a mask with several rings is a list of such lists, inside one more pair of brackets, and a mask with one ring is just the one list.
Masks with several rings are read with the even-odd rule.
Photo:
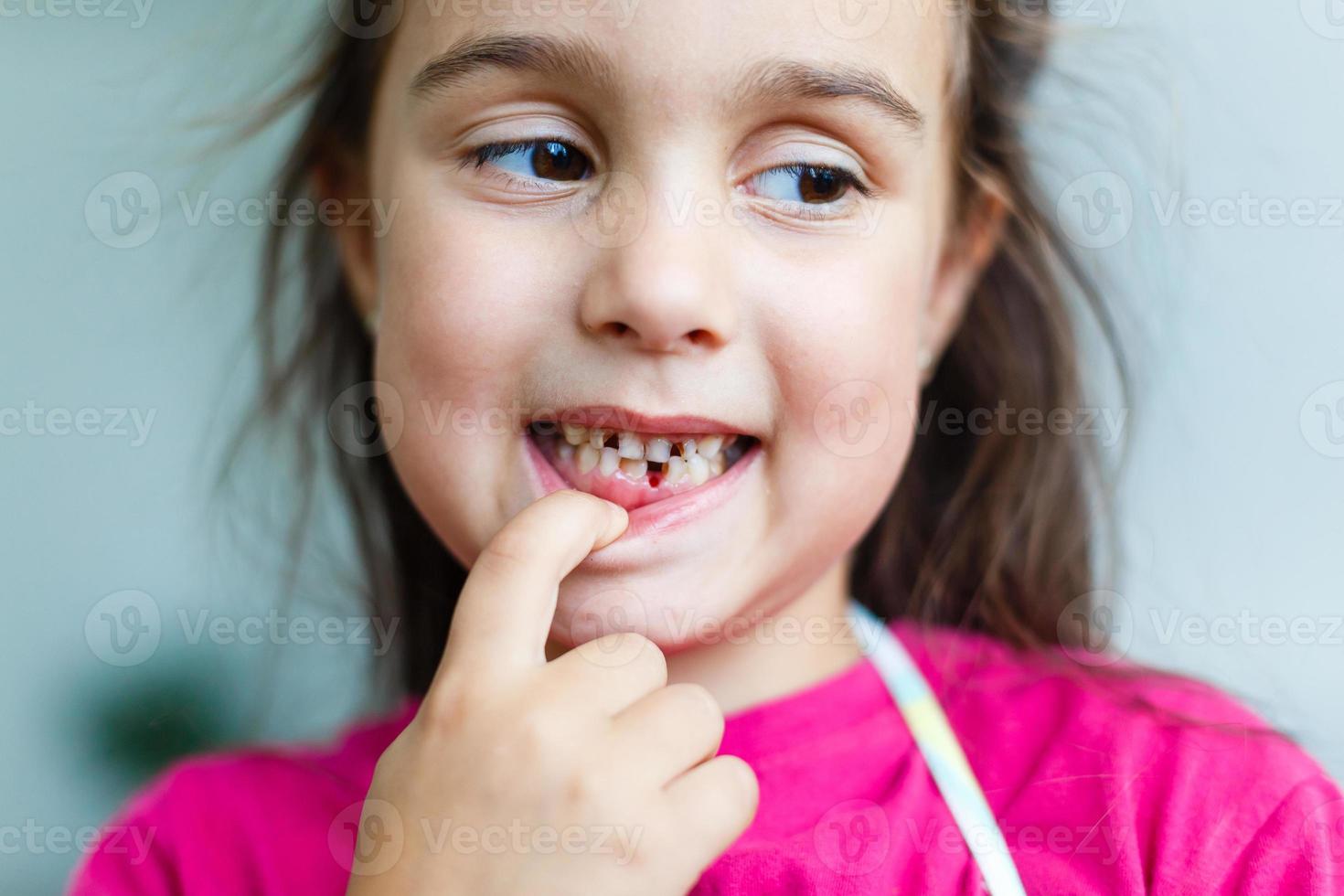
[[1005, 216], [1007, 204], [999, 192], [981, 187], [965, 220], [954, 228], [943, 249], [921, 333], [922, 349], [929, 361], [926, 376], [933, 373], [943, 349], [961, 326], [970, 294], [999, 249]]

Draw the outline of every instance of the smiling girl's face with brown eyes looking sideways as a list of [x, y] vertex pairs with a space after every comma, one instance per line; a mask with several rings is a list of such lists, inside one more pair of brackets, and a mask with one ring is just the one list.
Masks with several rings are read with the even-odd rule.
[[[945, 16], [895, 3], [856, 39], [823, 0], [629, 5], [407, 4], [367, 185], [399, 206], [343, 240], [382, 309], [392, 461], [448, 547], [472, 562], [563, 484], [645, 502], [564, 582], [552, 634], [676, 647], [798, 596], [862, 537], [974, 253], [952, 236]], [[500, 35], [539, 44], [430, 64]], [[477, 164], [487, 144], [523, 146]], [[621, 411], [569, 416], [593, 408]], [[607, 476], [618, 451], [589, 431], [527, 433], [547, 412], [636, 430], [653, 465]], [[704, 457], [720, 434], [751, 438]]]

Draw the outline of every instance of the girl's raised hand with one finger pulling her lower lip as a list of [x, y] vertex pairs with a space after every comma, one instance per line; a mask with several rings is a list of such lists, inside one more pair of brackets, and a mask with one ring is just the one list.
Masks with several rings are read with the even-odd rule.
[[378, 762], [348, 893], [685, 893], [750, 823], [755, 775], [714, 755], [722, 711], [668, 685], [653, 642], [612, 634], [546, 661], [560, 579], [626, 523], [556, 492], [487, 545], [419, 712]]

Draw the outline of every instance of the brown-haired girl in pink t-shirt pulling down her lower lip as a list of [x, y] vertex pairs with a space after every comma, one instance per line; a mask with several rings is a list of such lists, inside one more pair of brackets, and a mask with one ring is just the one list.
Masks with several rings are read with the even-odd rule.
[[276, 232], [266, 398], [409, 697], [175, 767], [77, 892], [1344, 892], [1325, 774], [1078, 625], [1044, 4], [332, 8], [284, 195], [394, 214], [306, 231], [288, 351]]

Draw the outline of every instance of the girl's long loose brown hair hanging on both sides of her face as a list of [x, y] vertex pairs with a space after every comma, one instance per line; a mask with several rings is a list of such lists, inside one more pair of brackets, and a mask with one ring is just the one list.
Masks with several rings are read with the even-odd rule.
[[[1046, 4], [997, 0], [976, 4], [962, 19], [950, 73], [952, 114], [960, 125], [958, 208], [964, 216], [978, 192], [989, 189], [1007, 219], [923, 400], [964, 414], [1000, 402], [1042, 412], [1078, 408], [1077, 341], [1085, 316], [1103, 334], [1101, 351], [1110, 355], [1120, 382], [1124, 376], [1098, 290], [1046, 214], [1028, 171], [1021, 120], [1048, 47]], [[280, 173], [278, 192], [289, 200], [310, 195], [324, 168], [364, 157], [390, 40], [351, 36], [355, 27], [328, 24], [324, 31], [309, 74], [259, 120], [310, 102]], [[304, 458], [305, 500], [292, 543], [304, 537], [314, 470], [325, 458], [355, 521], [372, 611], [402, 619], [401, 684], [421, 693], [442, 652], [465, 571], [411, 505], [386, 454], [356, 457], [327, 438], [332, 399], [372, 379], [372, 344], [332, 235], [321, 227], [301, 234], [284, 224], [270, 232], [255, 321], [261, 420], [292, 427]], [[292, 263], [298, 266], [294, 281]], [[298, 287], [297, 312], [286, 304], [290, 282]], [[969, 627], [1019, 646], [1067, 641], [1060, 614], [1094, 587], [1103, 482], [1097, 447], [1077, 433], [921, 431], [898, 488], [857, 547], [852, 591], [884, 618]]]

